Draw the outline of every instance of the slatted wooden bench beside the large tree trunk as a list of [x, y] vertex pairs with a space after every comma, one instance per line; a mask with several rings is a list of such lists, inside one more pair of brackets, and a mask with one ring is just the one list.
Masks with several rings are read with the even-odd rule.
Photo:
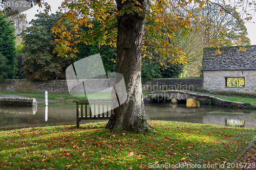
[[[111, 102], [90, 102], [89, 105], [88, 101], [76, 101], [76, 128], [79, 129], [81, 120], [109, 119], [113, 114], [111, 106]], [[104, 111], [107, 109], [110, 111]]]

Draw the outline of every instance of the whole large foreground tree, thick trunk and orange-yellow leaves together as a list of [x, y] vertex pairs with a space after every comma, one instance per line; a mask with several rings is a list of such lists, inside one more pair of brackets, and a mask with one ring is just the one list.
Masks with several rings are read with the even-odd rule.
[[[69, 9], [62, 18], [67, 18], [73, 28], [63, 33], [60, 21], [52, 29], [60, 37], [56, 51], [60, 56], [70, 54], [75, 57], [75, 44], [117, 46], [117, 72], [126, 84], [127, 100], [111, 116], [106, 128], [114, 131], [134, 129], [146, 132], [150, 129], [146, 121], [141, 87], [141, 51], [143, 41], [154, 44], [156, 53], [162, 58], [170, 57], [169, 62], [186, 63], [184, 52], [175, 44], [176, 32], [187, 36], [190, 30], [189, 19], [193, 17], [191, 4], [200, 7], [209, 1], [65, 1], [62, 7]], [[255, 6], [255, 3], [251, 4]], [[148, 6], [148, 8], [147, 8]], [[248, 18], [248, 17], [247, 17]], [[99, 22], [94, 27], [91, 20]], [[147, 25], [145, 26], [145, 21]], [[80, 32], [79, 26], [90, 28]], [[146, 36], [144, 36], [146, 30]], [[163, 37], [169, 41], [162, 41]], [[145, 40], [143, 40], [145, 38]], [[134, 127], [134, 128], [133, 128]]]

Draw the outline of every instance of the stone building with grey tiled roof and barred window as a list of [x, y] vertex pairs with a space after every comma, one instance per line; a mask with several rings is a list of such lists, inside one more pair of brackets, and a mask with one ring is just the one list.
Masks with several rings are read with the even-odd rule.
[[203, 88], [256, 95], [256, 45], [221, 47], [221, 54], [216, 51], [204, 48]]

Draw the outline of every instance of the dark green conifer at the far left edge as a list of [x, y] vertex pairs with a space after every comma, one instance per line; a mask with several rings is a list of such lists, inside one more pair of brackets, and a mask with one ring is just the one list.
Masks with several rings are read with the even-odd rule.
[[[0, 13], [0, 53], [4, 56], [2, 61], [6, 58], [6, 66], [8, 69], [3, 78], [12, 79], [14, 76], [15, 65], [15, 35], [12, 23], [6, 19], [6, 16]], [[1, 70], [2, 71], [2, 70]]]

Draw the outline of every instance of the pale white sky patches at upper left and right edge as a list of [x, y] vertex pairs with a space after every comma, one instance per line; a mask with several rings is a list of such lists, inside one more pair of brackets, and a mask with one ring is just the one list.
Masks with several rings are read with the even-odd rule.
[[[51, 6], [51, 11], [55, 13], [55, 11], [57, 11], [58, 7], [61, 5], [62, 0], [45, 0], [45, 2], [47, 2]], [[30, 10], [24, 12], [28, 14], [28, 21], [35, 18], [34, 15], [38, 13], [37, 10], [44, 11], [44, 9], [40, 9], [38, 6], [35, 6]], [[256, 45], [256, 14], [252, 18], [251, 23], [245, 23], [245, 27], [247, 28], [247, 37], [251, 40], [251, 45]]]

